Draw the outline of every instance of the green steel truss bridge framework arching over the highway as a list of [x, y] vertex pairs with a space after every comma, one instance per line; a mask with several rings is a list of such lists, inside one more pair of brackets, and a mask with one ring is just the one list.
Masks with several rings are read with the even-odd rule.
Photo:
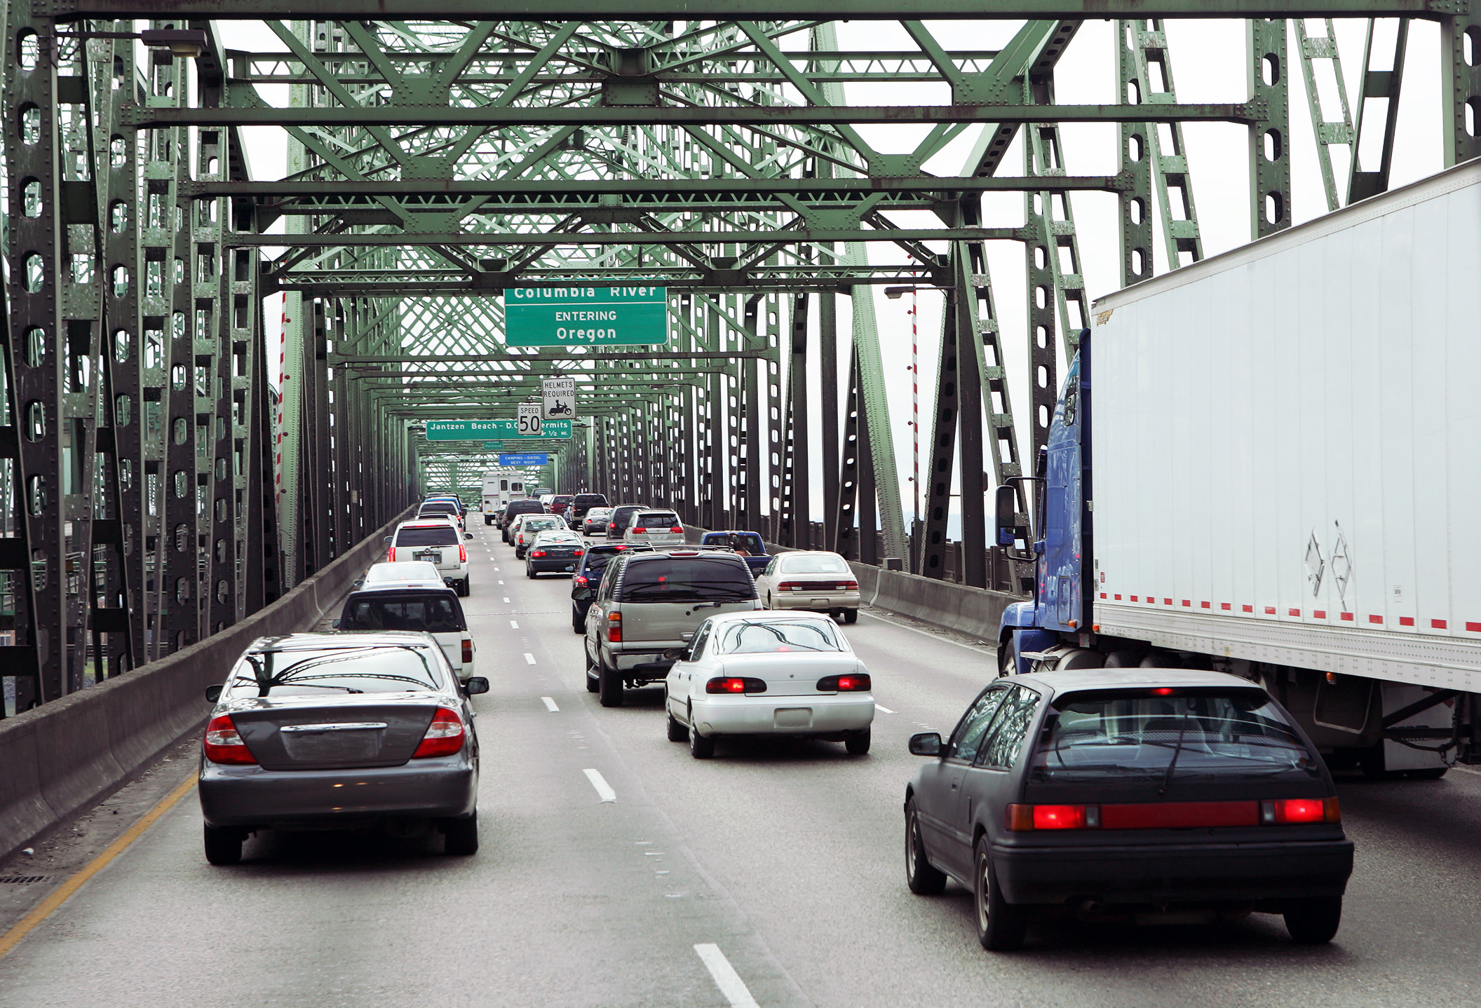
[[[472, 490], [493, 456], [428, 443], [425, 420], [509, 419], [551, 374], [575, 379], [575, 435], [518, 447], [552, 453], [545, 478], [561, 490], [674, 502], [690, 523], [897, 557], [935, 577], [960, 493], [958, 574], [988, 585], [983, 490], [1043, 443], [1056, 360], [1087, 324], [1069, 194], [1117, 195], [1124, 283], [1152, 274], [1158, 240], [1166, 262], [1195, 261], [1182, 124], [1237, 123], [1251, 237], [1288, 226], [1302, 93], [1328, 209], [1383, 191], [1411, 19], [1441, 28], [1444, 161], [1481, 155], [1481, 0], [0, 9], [12, 710], [241, 620], [424, 488]], [[1177, 99], [1164, 19], [1188, 16], [1248, 19], [1253, 83], [1238, 101]], [[249, 18], [274, 33], [271, 50], [234, 47], [234, 19]], [[1086, 18], [1118, 18], [1118, 87], [1106, 104], [1059, 104], [1056, 67], [1075, 59]], [[1400, 28], [1374, 44], [1370, 21], [1367, 50], [1348, 53], [1365, 61], [1358, 93], [1323, 105], [1311, 81], [1339, 61], [1331, 18]], [[838, 19], [897, 21], [915, 47], [844, 49]], [[1022, 28], [1003, 49], [964, 50], [933, 30], [942, 19]], [[1291, 90], [1297, 68], [1305, 92]], [[849, 84], [881, 81], [932, 84], [940, 99], [847, 101]], [[1364, 115], [1379, 101], [1388, 114]], [[1065, 164], [1062, 123], [1117, 124], [1117, 173]], [[921, 139], [881, 152], [866, 139], [875, 124], [914, 124]], [[283, 130], [283, 178], [249, 170], [253, 126]], [[1363, 130], [1382, 133], [1382, 154], [1334, 170], [1331, 152], [1355, 152]], [[923, 169], [960, 138], [970, 155], [955, 175]], [[1006, 163], [1016, 138], [1023, 152]], [[1020, 192], [1022, 216], [988, 219], [994, 191]], [[1026, 330], [998, 327], [989, 241], [1022, 246]], [[668, 289], [666, 346], [505, 345], [505, 290], [622, 283]], [[945, 293], [942, 327], [926, 335], [942, 366], [920, 379], [929, 459], [914, 530], [871, 298], [881, 286]], [[265, 342], [278, 321], [281, 361]], [[1017, 382], [1009, 342], [1028, 348]], [[1010, 401], [1010, 385], [1028, 401]]]

